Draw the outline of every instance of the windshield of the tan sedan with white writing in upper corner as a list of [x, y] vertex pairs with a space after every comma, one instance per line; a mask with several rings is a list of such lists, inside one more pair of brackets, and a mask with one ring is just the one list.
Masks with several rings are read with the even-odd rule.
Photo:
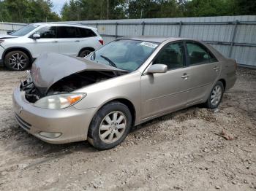
[[156, 42], [116, 40], [89, 56], [92, 61], [108, 64], [118, 69], [135, 71], [157, 48]]

